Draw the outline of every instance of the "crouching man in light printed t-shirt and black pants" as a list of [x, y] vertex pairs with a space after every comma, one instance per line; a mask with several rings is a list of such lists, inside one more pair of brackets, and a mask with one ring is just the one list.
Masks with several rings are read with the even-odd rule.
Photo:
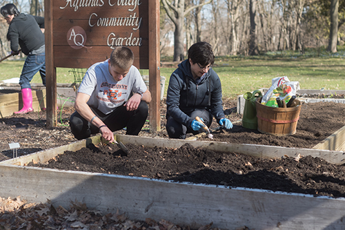
[[70, 129], [77, 140], [101, 132], [114, 142], [114, 134], [126, 127], [127, 135], [138, 135], [148, 117], [148, 91], [134, 55], [124, 46], [112, 50], [110, 59], [92, 65], [86, 71], [75, 99]]

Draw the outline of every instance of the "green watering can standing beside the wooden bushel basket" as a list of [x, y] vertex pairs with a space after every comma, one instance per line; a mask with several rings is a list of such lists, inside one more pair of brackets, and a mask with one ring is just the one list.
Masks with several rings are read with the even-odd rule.
[[262, 93], [260, 90], [255, 90], [253, 93], [245, 93], [243, 97], [246, 99], [246, 103], [244, 104], [242, 126], [244, 128], [257, 129], [257, 108], [255, 101], [257, 97], [262, 97]]

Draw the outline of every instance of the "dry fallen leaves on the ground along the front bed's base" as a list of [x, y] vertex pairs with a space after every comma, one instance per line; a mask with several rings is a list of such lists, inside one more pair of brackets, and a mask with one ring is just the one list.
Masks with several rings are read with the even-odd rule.
[[[199, 227], [199, 230], [218, 230], [211, 228], [213, 223]], [[168, 220], [159, 222], [146, 218], [145, 221], [129, 220], [126, 213], [108, 213], [90, 210], [86, 204], [71, 202], [70, 209], [55, 208], [48, 200], [46, 204], [28, 203], [17, 198], [0, 198], [0, 229], [121, 229], [121, 230], [190, 230], [179, 227]]]

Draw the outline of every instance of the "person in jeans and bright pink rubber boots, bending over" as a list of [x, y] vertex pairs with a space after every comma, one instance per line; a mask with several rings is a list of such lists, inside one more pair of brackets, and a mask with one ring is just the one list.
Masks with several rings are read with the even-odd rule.
[[1, 7], [0, 12], [9, 25], [7, 39], [10, 41], [11, 53], [13, 55], [19, 55], [20, 46], [21, 52], [28, 56], [26, 57], [19, 79], [23, 108], [18, 112], [14, 112], [28, 113], [34, 110], [32, 108], [30, 82], [38, 71], [41, 74], [43, 85], [46, 86], [46, 48], [43, 34], [44, 18], [21, 13], [12, 3]]

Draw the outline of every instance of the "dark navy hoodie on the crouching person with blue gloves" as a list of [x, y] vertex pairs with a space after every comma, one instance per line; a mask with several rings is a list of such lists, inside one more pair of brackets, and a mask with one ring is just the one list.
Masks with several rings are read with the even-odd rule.
[[219, 119], [225, 117], [222, 103], [221, 82], [212, 68], [197, 84], [190, 70], [190, 63], [186, 59], [170, 76], [166, 95], [167, 119], [171, 116], [177, 122], [190, 126], [193, 119], [187, 114], [201, 108], [210, 111], [219, 123]]

